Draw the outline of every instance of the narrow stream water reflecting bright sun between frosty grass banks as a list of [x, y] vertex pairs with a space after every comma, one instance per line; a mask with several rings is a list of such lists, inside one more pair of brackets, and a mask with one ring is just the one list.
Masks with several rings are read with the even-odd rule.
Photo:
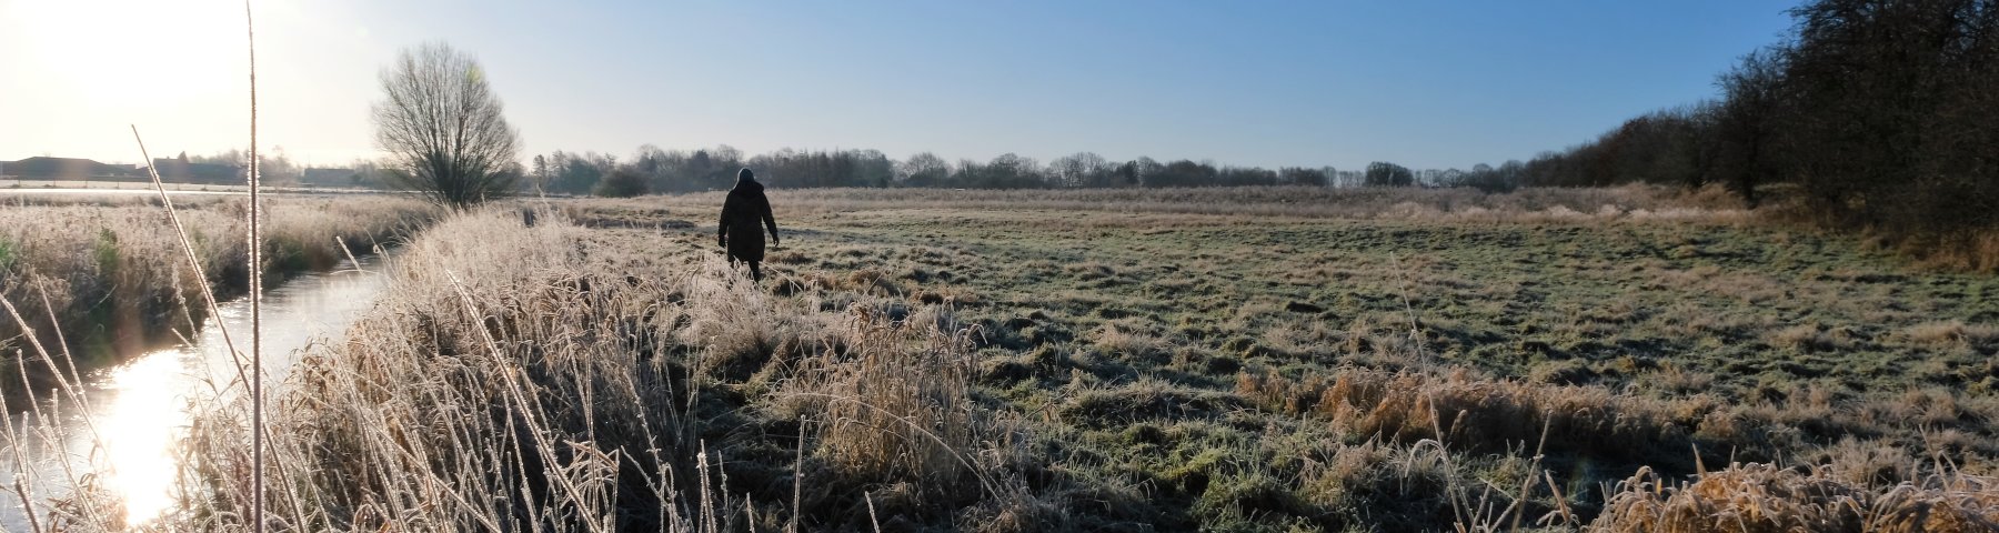
[[[342, 262], [334, 271], [304, 273], [266, 289], [266, 397], [276, 397], [278, 383], [298, 361], [302, 347], [338, 339], [386, 285], [380, 260], [370, 256], [360, 260], [360, 269]], [[48, 499], [70, 493], [72, 479], [86, 475], [94, 475], [124, 501], [128, 523], [166, 511], [178, 471], [174, 447], [192, 423], [192, 405], [218, 397], [218, 389], [228, 387], [238, 373], [218, 321], [248, 351], [250, 299], [238, 297], [220, 305], [192, 345], [150, 351], [86, 375], [82, 389], [88, 409], [62, 401], [64, 413], [50, 419], [14, 415], [14, 431], [8, 433], [24, 439], [0, 437], [0, 529], [28, 531], [14, 483], [28, 487], [34, 511], [42, 527], [48, 527]], [[58, 405], [44, 399], [42, 407], [46, 411]]]

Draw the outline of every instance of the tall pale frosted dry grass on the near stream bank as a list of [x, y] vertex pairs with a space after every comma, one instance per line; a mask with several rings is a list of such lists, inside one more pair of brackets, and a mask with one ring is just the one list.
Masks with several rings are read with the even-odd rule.
[[[964, 333], [868, 303], [776, 299], [720, 258], [652, 260], [592, 246], [554, 214], [430, 230], [394, 260], [376, 309], [280, 387], [270, 519], [854, 529], [872, 503], [1035, 523], [1039, 507], [1005, 475], [1021, 431], [972, 401]], [[244, 409], [224, 403], [194, 427], [190, 501], [162, 525], [242, 527]]]

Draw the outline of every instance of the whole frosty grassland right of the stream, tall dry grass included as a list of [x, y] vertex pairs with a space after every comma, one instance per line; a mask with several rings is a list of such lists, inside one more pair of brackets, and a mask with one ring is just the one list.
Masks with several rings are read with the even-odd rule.
[[[718, 196], [456, 216], [276, 401], [272, 519], [1999, 521], [1999, 279], [1699, 194], [1355, 194], [774, 192], [784, 248], [762, 283], [720, 258]], [[194, 427], [196, 489], [162, 527], [240, 525], [246, 431], [234, 411]]]

